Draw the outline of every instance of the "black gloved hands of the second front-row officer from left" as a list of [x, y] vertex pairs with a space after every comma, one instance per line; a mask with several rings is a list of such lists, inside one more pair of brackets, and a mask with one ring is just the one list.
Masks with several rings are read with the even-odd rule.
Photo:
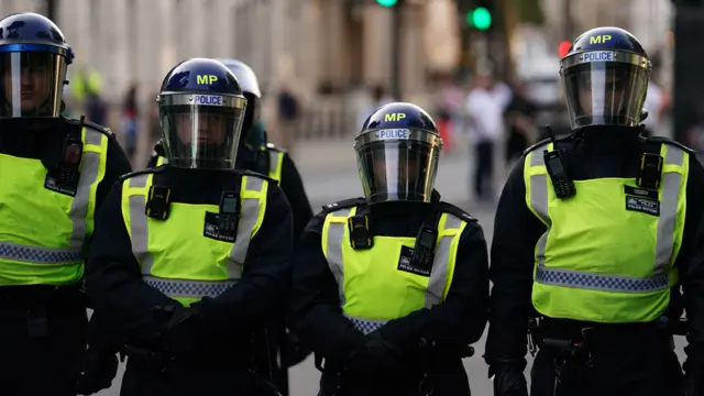
[[200, 306], [193, 304], [154, 308], [154, 315], [162, 324], [162, 339], [166, 351], [173, 356], [183, 356], [193, 351], [205, 337]]

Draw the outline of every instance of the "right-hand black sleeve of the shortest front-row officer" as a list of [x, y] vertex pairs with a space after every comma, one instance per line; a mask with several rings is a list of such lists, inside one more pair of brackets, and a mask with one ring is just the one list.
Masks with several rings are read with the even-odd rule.
[[380, 332], [399, 346], [413, 348], [421, 338], [439, 345], [468, 345], [482, 338], [487, 316], [488, 252], [482, 228], [471, 222], [460, 237], [446, 301], [392, 320]]

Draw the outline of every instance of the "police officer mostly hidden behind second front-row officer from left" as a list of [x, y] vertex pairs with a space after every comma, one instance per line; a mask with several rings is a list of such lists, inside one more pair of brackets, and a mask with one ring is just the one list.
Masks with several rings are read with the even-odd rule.
[[[263, 130], [260, 117], [262, 92], [254, 70], [241, 61], [217, 61], [234, 74], [248, 100], [235, 167], [268, 175], [268, 177], [278, 180], [294, 213], [294, 241], [296, 241], [312, 218], [312, 210], [300, 174], [286, 151], [266, 142], [266, 132]], [[165, 162], [164, 145], [158, 142], [154, 147], [148, 166], [157, 166]], [[309, 351], [302, 348], [296, 337], [283, 324], [268, 327], [264, 338], [265, 340], [262, 341], [267, 343], [270, 355], [267, 359], [261, 360], [262, 371], [270, 371], [270, 376], [276, 383], [278, 391], [283, 395], [288, 395], [287, 369], [305, 360]]]

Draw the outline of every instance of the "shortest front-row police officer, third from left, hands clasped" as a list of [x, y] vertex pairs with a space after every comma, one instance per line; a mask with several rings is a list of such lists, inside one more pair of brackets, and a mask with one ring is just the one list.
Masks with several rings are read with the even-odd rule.
[[410, 103], [355, 139], [364, 198], [327, 205], [294, 255], [292, 323], [321, 395], [469, 395], [462, 358], [484, 330], [486, 241], [433, 190], [442, 141]]

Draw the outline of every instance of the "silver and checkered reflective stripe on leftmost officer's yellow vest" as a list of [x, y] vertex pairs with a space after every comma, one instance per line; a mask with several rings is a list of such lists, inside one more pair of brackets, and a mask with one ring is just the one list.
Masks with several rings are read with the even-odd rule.
[[[81, 132], [82, 133], [82, 132]], [[85, 129], [86, 144], [100, 146], [102, 133], [89, 128]], [[72, 232], [67, 249], [47, 249], [26, 246], [11, 242], [0, 243], [0, 258], [13, 260], [32, 264], [65, 265], [84, 261], [84, 243], [88, 224], [88, 208], [90, 204], [90, 187], [97, 182], [100, 172], [100, 154], [84, 150], [81, 153], [80, 177], [76, 188], [76, 196], [70, 202], [68, 218]]]

